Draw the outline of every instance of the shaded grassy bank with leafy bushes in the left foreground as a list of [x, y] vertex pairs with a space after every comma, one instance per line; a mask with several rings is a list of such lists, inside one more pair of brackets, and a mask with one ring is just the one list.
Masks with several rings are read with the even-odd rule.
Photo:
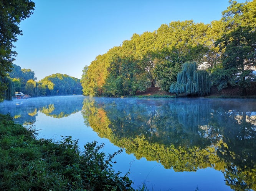
[[128, 173], [111, 168], [114, 154], [87, 143], [80, 152], [70, 136], [57, 143], [35, 138], [33, 126], [0, 115], [0, 188], [2, 190], [134, 190]]

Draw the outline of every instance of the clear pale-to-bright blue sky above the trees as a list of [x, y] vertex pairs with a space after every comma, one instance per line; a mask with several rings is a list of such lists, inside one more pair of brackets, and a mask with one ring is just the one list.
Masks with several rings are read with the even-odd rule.
[[[81, 79], [84, 66], [134, 33], [161, 24], [221, 19], [228, 0], [33, 0], [35, 11], [21, 21], [14, 63], [37, 80], [55, 73]], [[245, 2], [245, 0], [238, 0]]]

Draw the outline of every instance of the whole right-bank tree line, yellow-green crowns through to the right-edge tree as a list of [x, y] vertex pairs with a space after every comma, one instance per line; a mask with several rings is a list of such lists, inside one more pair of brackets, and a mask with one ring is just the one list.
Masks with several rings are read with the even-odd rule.
[[[219, 21], [172, 21], [153, 32], [134, 34], [84, 67], [83, 94], [120, 97], [158, 86], [173, 93], [207, 95], [208, 84], [219, 90], [238, 85], [246, 94], [256, 63], [255, 11], [256, 0], [230, 1]], [[183, 72], [194, 84], [177, 83], [184, 63], [197, 65], [193, 75]]]

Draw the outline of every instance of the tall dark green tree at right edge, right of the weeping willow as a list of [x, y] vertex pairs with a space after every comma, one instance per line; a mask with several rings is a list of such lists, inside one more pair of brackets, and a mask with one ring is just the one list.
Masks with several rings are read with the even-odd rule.
[[[230, 0], [230, 6], [223, 11], [224, 34], [215, 44], [224, 50], [222, 65], [213, 73], [218, 88], [231, 84], [241, 86], [243, 95], [250, 86], [251, 67], [256, 66], [256, 0], [238, 3]], [[226, 73], [225, 78], [221, 75]]]

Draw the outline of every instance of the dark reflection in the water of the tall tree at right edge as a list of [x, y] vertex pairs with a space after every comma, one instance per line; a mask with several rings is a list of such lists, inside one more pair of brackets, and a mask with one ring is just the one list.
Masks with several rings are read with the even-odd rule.
[[234, 190], [256, 190], [255, 117], [246, 110], [220, 110], [213, 118], [216, 128], [222, 129], [223, 133], [218, 155], [227, 164], [226, 184]]

